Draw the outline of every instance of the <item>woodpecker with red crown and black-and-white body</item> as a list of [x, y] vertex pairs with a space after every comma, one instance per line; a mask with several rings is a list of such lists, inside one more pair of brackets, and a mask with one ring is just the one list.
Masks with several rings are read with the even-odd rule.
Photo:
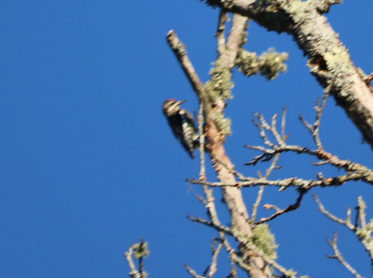
[[180, 108], [180, 105], [185, 101], [166, 99], [163, 102], [162, 109], [173, 135], [179, 140], [190, 157], [194, 159], [194, 148], [197, 143], [195, 140], [198, 137], [196, 135], [197, 129], [194, 125], [192, 115], [185, 109]]

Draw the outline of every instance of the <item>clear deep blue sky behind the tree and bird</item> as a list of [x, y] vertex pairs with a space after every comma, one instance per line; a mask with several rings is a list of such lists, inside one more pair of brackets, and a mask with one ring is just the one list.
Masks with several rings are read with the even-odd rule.
[[[345, 1], [327, 15], [352, 60], [366, 73], [373, 70], [373, 3]], [[205, 216], [194, 198], [198, 160], [191, 161], [173, 138], [161, 112], [166, 98], [197, 100], [165, 36], [173, 29], [187, 45], [200, 78], [208, 78], [216, 57], [217, 9], [193, 0], [22, 1], [0, 4], [0, 276], [125, 277], [122, 256], [140, 237], [148, 241], [145, 269], [151, 277], [189, 277], [188, 263], [200, 273], [210, 261], [215, 233], [186, 220]], [[276, 80], [243, 77], [234, 72], [234, 99], [226, 113], [233, 135], [226, 149], [246, 175], [268, 167], [244, 167], [260, 144], [251, 124], [253, 111], [270, 118], [287, 106], [289, 143], [312, 147], [297, 120], [312, 121], [322, 89], [305, 67], [306, 58], [285, 34], [268, 33], [255, 23], [248, 30], [247, 50], [258, 54], [275, 47], [289, 52], [288, 72]], [[372, 167], [372, 152], [333, 99], [327, 101], [321, 139], [341, 158]], [[285, 154], [283, 169], [273, 178], [312, 178], [310, 157]], [[209, 170], [208, 177], [214, 180]], [[244, 189], [248, 204], [256, 189]], [[344, 217], [356, 198], [373, 194], [360, 182], [317, 189], [326, 207]], [[311, 192], [312, 193], [312, 192]], [[219, 192], [215, 192], [219, 200]], [[285, 207], [293, 189], [267, 189], [264, 203]], [[226, 211], [219, 208], [222, 219]], [[260, 211], [259, 217], [270, 212]], [[228, 222], [228, 219], [225, 220]], [[354, 236], [316, 211], [311, 194], [297, 211], [271, 223], [279, 243], [279, 263], [310, 277], [349, 277], [325, 237], [338, 229], [339, 248], [360, 274], [370, 276], [368, 256]], [[217, 277], [225, 277], [222, 254]]]

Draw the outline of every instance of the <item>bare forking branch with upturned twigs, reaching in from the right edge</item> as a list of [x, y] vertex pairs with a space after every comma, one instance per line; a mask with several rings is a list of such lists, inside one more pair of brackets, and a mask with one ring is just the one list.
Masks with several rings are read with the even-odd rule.
[[[284, 125], [285, 120], [282, 119], [281, 124], [281, 136], [276, 130], [276, 114], [272, 117], [272, 123], [271, 126], [269, 126], [264, 119], [263, 115], [256, 113], [255, 116], [259, 120], [259, 123], [254, 121], [254, 124], [256, 127], [258, 127], [260, 131], [260, 137], [263, 139], [264, 144], [269, 146], [270, 148], [265, 148], [263, 146], [249, 146], [246, 145], [246, 148], [249, 149], [255, 149], [258, 151], [261, 151], [261, 155], [257, 155], [254, 157], [250, 162], [245, 163], [244, 165], [255, 165], [258, 163], [258, 161], [269, 161], [271, 160], [276, 154], [281, 154], [282, 152], [297, 152], [298, 154], [309, 154], [315, 156], [320, 161], [314, 162], [313, 165], [319, 166], [323, 164], [331, 164], [332, 166], [338, 168], [338, 169], [344, 169], [347, 174], [340, 175], [336, 177], [329, 177], [324, 178], [321, 173], [317, 174], [317, 177], [319, 180], [300, 180], [300, 179], [286, 179], [280, 181], [277, 181], [278, 183], [274, 181], [268, 181], [268, 183], [263, 183], [267, 185], [279, 185], [282, 189], [286, 188], [289, 185], [298, 186], [304, 189], [310, 188], [312, 186], [330, 186], [330, 185], [342, 185], [343, 183], [349, 181], [349, 180], [363, 180], [366, 183], [369, 183], [373, 185], [373, 171], [368, 169], [367, 167], [358, 164], [353, 163], [349, 160], [341, 160], [336, 155], [332, 155], [322, 148], [322, 143], [319, 139], [319, 126], [320, 126], [320, 119], [323, 109], [325, 108], [326, 98], [328, 93], [330, 92], [330, 89], [332, 88], [333, 81], [329, 84], [329, 87], [325, 90], [323, 99], [321, 101], [321, 104], [319, 106], [319, 101], [316, 102], [315, 110], [316, 110], [316, 120], [313, 125], [308, 124], [307, 121], [304, 120], [304, 118], [300, 115], [300, 120], [304, 124], [304, 126], [310, 131], [310, 133], [313, 136], [313, 140], [317, 146], [316, 150], [310, 150], [305, 147], [297, 146], [297, 145], [287, 145], [285, 143], [285, 140], [287, 139], [286, 136], [284, 136]], [[277, 143], [274, 144], [270, 142], [267, 138], [267, 135], [265, 133], [265, 130], [268, 130], [272, 133], [272, 135], [276, 138]], [[240, 180], [245, 181], [244, 183], [235, 183], [235, 185], [229, 185], [229, 186], [250, 186], [250, 185], [258, 185], [258, 179], [252, 178], [252, 177], [241, 177]], [[267, 181], [265, 181], [267, 182]], [[298, 185], [294, 184], [297, 183]], [[281, 185], [280, 185], [281, 183]], [[218, 184], [215, 184], [217, 186]], [[223, 184], [220, 184], [219, 186], [224, 186]]]

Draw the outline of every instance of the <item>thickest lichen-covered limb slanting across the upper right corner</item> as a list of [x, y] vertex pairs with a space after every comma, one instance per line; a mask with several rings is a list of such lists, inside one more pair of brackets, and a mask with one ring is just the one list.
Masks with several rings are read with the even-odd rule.
[[234, 13], [248, 16], [268, 30], [292, 35], [308, 56], [307, 65], [373, 148], [373, 96], [366, 76], [352, 63], [348, 50], [322, 15], [336, 0], [204, 0]]

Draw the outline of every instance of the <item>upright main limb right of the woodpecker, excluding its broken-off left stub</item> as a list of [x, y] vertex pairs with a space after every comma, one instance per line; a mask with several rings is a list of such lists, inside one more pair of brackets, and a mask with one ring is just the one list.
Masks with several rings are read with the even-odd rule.
[[[220, 48], [216, 59], [216, 67], [211, 72], [211, 79], [206, 83], [209, 95], [209, 105], [214, 107], [213, 113], [206, 117], [205, 134], [207, 142], [207, 151], [210, 154], [213, 167], [221, 182], [234, 182], [235, 175], [228, 169], [233, 168], [229, 157], [225, 153], [224, 138], [222, 134], [222, 125], [219, 121], [223, 118], [226, 97], [230, 94], [231, 70], [234, 67], [234, 61], [239, 47], [243, 42], [243, 36], [246, 28], [247, 18], [240, 15], [233, 15], [232, 27], [225, 43], [225, 51]], [[222, 78], [223, 79], [220, 79]], [[214, 86], [215, 82], [223, 82], [222, 86]], [[219, 83], [222, 84], [222, 83]], [[217, 88], [218, 90], [211, 90]], [[220, 124], [220, 128], [218, 125]], [[228, 132], [227, 132], [228, 133]], [[222, 162], [222, 163], [220, 163]], [[224, 167], [222, 165], [226, 165]], [[234, 189], [234, 190], [231, 190]], [[234, 237], [250, 238], [252, 234], [251, 226], [248, 222], [248, 213], [242, 199], [241, 191], [238, 188], [223, 188], [223, 198], [231, 214], [231, 225]], [[247, 241], [247, 240], [246, 240]], [[267, 277], [261, 270], [264, 262], [260, 257], [252, 256], [250, 258], [250, 276], [253, 278]]]

